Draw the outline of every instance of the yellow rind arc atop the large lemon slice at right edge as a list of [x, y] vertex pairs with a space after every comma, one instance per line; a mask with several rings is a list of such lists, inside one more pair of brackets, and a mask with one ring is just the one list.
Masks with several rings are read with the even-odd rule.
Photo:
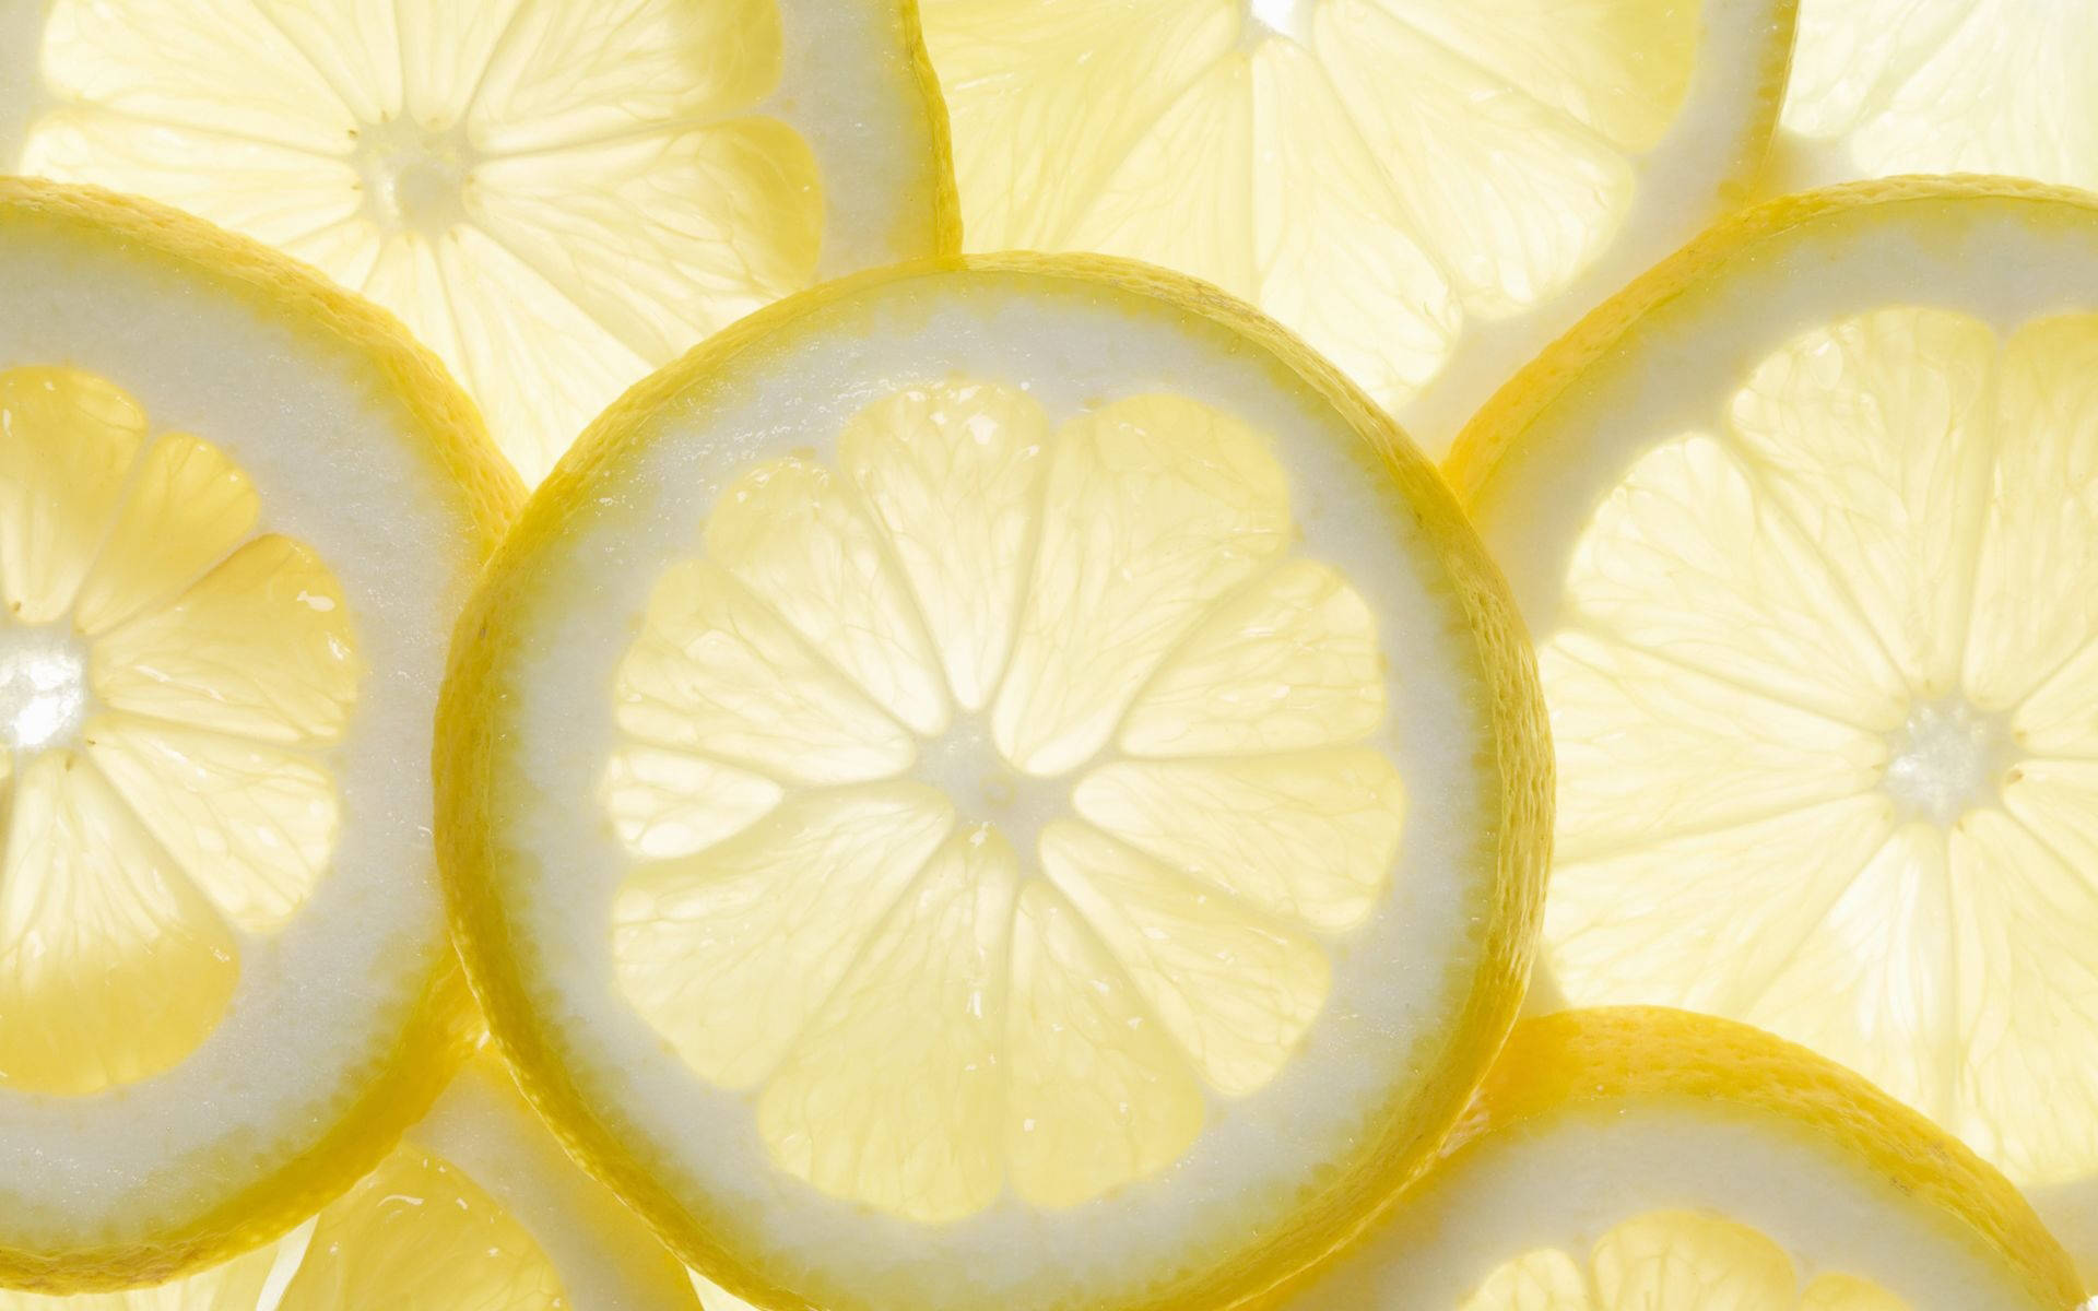
[[1464, 424], [1464, 430], [1450, 447], [1450, 455], [1443, 459], [1443, 476], [1450, 480], [1460, 503], [1477, 503], [1479, 493], [1494, 480], [1496, 470], [1517, 455], [1538, 415], [1582, 371], [1615, 350], [1649, 310], [1674, 300], [1683, 289], [1754, 252], [1758, 245], [1779, 241], [1794, 229], [1844, 210], [1930, 206], [1957, 199], [2033, 203], [2073, 212], [2083, 220], [2098, 214], [2098, 197], [2085, 191], [1989, 174], [1871, 178], [1783, 195], [1741, 210], [1708, 227], [1683, 250], [1588, 310], [1565, 336], [1504, 382], [1471, 422]]

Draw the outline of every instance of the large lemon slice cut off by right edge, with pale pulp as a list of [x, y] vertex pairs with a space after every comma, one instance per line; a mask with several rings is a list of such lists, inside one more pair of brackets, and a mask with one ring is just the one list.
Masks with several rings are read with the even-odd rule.
[[2098, 212], [1857, 185], [1655, 268], [1450, 466], [1542, 644], [1565, 996], [1806, 1043], [2083, 1235], [2094, 365]]

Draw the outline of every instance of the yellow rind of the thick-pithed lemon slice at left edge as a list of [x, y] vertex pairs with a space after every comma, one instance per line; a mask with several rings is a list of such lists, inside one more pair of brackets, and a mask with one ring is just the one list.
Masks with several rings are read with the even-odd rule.
[[[476, 554], [487, 554], [524, 499], [480, 415], [445, 367], [392, 315], [325, 283], [290, 256], [199, 218], [99, 187], [0, 178], [0, 235], [71, 229], [82, 239], [151, 252], [185, 277], [214, 285], [287, 325], [317, 348], [369, 363], [413, 422], [411, 449], [432, 482], [457, 489]], [[138, 1242], [80, 1242], [63, 1250], [8, 1242], [0, 1227], [0, 1286], [90, 1292], [159, 1284], [273, 1240], [361, 1179], [436, 1099], [466, 1057], [478, 1019], [451, 954], [422, 984], [392, 1049], [357, 1101], [304, 1154], [218, 1206]], [[204, 1162], [199, 1162], [201, 1166]]]

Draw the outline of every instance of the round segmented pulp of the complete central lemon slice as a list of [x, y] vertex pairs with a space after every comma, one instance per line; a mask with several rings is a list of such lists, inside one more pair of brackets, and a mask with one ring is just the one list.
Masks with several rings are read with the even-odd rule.
[[[923, 1223], [1072, 1206], [1276, 1078], [1391, 883], [1364, 598], [1269, 438], [908, 386], [657, 581], [602, 776], [627, 1003], [772, 1160]], [[906, 778], [915, 774], [915, 778]], [[1045, 778], [1055, 776], [1055, 778]]]

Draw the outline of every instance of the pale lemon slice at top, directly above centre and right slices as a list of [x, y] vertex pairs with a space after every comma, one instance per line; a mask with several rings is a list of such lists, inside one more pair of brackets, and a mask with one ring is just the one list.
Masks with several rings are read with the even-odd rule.
[[1790, 0], [923, 0], [969, 250], [1204, 277], [1439, 453], [1729, 208]]

